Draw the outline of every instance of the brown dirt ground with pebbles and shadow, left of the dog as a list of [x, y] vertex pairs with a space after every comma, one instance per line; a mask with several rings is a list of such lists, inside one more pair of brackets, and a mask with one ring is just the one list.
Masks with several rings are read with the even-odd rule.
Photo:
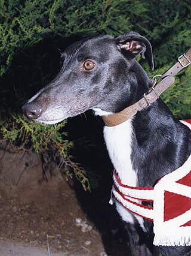
[[0, 150], [0, 256], [128, 255], [107, 191], [84, 192], [60, 173], [45, 182], [36, 154]]

